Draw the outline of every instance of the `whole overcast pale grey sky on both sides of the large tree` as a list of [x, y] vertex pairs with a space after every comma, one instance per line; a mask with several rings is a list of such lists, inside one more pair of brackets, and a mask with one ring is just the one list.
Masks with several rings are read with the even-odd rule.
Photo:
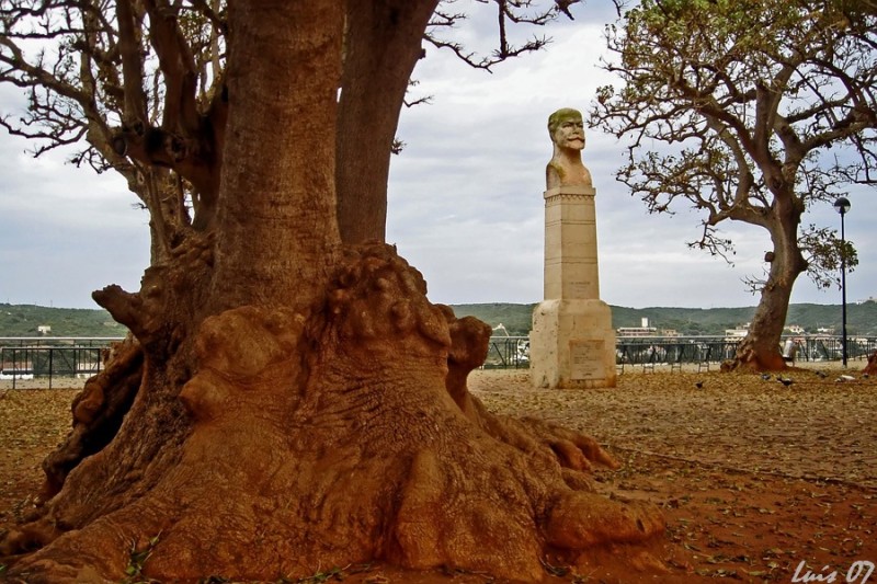
[[[449, 53], [428, 48], [412, 98], [430, 105], [402, 112], [398, 136], [407, 146], [394, 157], [387, 239], [426, 278], [435, 302], [537, 302], [543, 288], [545, 164], [551, 156], [548, 115], [559, 107], [586, 112], [595, 88], [615, 81], [597, 68], [605, 43], [606, 7], [579, 7], [574, 22], [536, 32], [549, 47], [504, 64], [490, 75], [471, 70]], [[603, 2], [608, 4], [608, 2]], [[458, 31], [470, 46], [488, 47], [494, 16]], [[480, 43], [480, 45], [479, 45]], [[0, 111], [21, 99], [0, 88]], [[623, 146], [588, 131], [583, 160], [597, 190], [601, 298], [626, 307], [754, 306], [743, 278], [760, 276], [765, 231], [725, 226], [737, 243], [734, 265], [685, 243], [698, 236], [698, 217], [649, 215], [614, 180]], [[27, 144], [0, 131], [0, 302], [95, 308], [91, 291], [115, 283], [139, 288], [148, 264], [148, 217], [111, 174], [98, 176], [64, 163], [33, 159]], [[851, 192], [846, 236], [859, 254], [847, 277], [847, 299], [877, 296], [877, 205], [873, 192]], [[824, 206], [806, 224], [840, 226]], [[840, 304], [840, 291], [821, 291], [798, 278], [793, 302]]]

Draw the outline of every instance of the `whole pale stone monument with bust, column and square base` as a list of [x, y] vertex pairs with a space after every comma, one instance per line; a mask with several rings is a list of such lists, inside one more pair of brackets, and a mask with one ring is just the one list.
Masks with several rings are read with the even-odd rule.
[[600, 299], [596, 190], [582, 164], [584, 125], [576, 110], [548, 118], [555, 152], [546, 168], [545, 300], [533, 311], [534, 387], [615, 387], [615, 330]]

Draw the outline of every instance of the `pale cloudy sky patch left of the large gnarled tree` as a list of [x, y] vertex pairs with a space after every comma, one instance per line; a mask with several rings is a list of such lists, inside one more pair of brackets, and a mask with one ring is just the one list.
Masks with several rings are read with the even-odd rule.
[[0, 301], [96, 308], [111, 283], [139, 288], [149, 262], [148, 217], [113, 174], [34, 159], [27, 144], [0, 137]]

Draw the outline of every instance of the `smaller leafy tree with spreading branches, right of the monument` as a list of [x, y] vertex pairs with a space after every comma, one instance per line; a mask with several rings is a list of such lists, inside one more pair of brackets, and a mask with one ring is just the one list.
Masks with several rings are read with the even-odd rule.
[[[761, 300], [732, 367], [782, 369], [791, 288], [828, 287], [852, 245], [802, 226], [805, 210], [877, 182], [877, 3], [864, 0], [642, 0], [607, 28], [624, 81], [603, 87], [591, 126], [628, 138], [617, 180], [651, 213], [703, 214], [688, 245], [728, 257], [717, 226], [767, 230]], [[660, 147], [660, 150], [656, 150]]]

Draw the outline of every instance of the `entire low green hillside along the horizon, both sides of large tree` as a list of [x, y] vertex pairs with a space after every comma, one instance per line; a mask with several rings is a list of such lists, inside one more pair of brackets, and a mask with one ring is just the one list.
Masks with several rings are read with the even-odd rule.
[[[534, 305], [481, 304], [455, 305], [457, 317], [472, 316], [493, 328], [502, 324], [512, 336], [529, 333]], [[877, 302], [847, 305], [847, 332], [851, 335], [877, 335]], [[672, 329], [681, 334], [724, 334], [752, 320], [749, 308], [625, 308], [612, 307], [614, 328], [639, 327], [643, 318], [659, 331]], [[841, 332], [839, 305], [791, 305], [787, 324], [797, 324], [807, 332], [834, 328]], [[110, 318], [105, 310], [47, 308], [31, 305], [0, 304], [0, 336], [37, 336], [37, 327], [52, 328], [50, 336], [124, 336], [125, 327]]]

